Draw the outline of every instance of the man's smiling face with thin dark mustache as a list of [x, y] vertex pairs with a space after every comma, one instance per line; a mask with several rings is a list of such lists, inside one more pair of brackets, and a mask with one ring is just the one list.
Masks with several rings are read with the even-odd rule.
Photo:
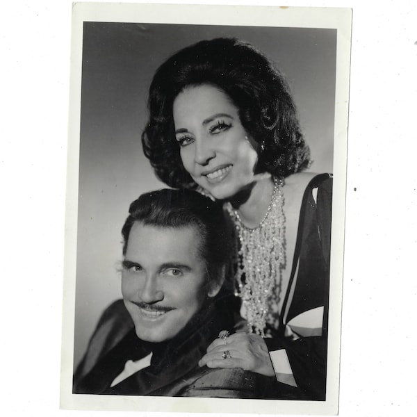
[[133, 224], [123, 261], [122, 294], [138, 338], [167, 341], [202, 307], [208, 290], [199, 244], [195, 227]]

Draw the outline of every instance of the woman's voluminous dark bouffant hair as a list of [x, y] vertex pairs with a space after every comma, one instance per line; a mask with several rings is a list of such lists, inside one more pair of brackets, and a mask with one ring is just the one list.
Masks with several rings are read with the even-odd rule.
[[195, 188], [174, 136], [174, 99], [190, 85], [211, 84], [238, 108], [243, 128], [259, 144], [256, 172], [277, 177], [309, 166], [310, 152], [284, 77], [252, 47], [235, 38], [204, 40], [181, 49], [158, 68], [149, 88], [143, 151], [168, 186]]

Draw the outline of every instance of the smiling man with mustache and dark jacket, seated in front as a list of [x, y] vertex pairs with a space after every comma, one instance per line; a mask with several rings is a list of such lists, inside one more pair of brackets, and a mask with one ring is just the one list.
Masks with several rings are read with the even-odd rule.
[[[235, 324], [223, 285], [229, 240], [222, 207], [191, 191], [158, 190], [129, 213], [123, 301], [99, 320], [73, 392], [261, 398], [275, 378], [198, 366], [219, 332]], [[224, 360], [230, 354], [225, 345]]]

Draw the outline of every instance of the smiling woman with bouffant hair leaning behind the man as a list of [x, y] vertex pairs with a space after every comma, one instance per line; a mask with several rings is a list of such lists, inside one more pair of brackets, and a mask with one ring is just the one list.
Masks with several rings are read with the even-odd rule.
[[200, 365], [325, 399], [332, 183], [302, 172], [309, 147], [284, 78], [250, 44], [202, 41], [158, 68], [148, 105], [142, 144], [158, 177], [224, 203], [235, 226], [247, 332], [216, 339]]

